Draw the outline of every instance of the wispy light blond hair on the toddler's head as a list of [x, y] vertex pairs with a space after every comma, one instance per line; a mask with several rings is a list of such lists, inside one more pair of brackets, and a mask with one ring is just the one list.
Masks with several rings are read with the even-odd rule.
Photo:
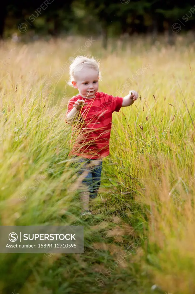
[[77, 56], [69, 67], [69, 86], [73, 87], [72, 81], [75, 81], [75, 73], [81, 71], [85, 67], [97, 70], [100, 80], [102, 79], [101, 72], [99, 69], [99, 62], [94, 57], [88, 58], [85, 56]]

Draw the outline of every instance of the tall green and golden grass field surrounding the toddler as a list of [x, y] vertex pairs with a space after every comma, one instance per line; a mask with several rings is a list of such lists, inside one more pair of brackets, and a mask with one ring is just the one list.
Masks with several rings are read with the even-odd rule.
[[[83, 220], [64, 123], [80, 54], [100, 61], [99, 91], [140, 95], [113, 113]], [[0, 44], [0, 224], [84, 226], [84, 253], [1, 253], [0, 293], [195, 293], [194, 54], [182, 36], [173, 47], [110, 40], [106, 51], [91, 37]]]

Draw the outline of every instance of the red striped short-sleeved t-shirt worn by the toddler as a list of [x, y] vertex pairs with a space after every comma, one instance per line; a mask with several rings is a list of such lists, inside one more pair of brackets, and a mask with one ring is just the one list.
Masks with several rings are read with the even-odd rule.
[[113, 97], [103, 92], [97, 92], [95, 98], [74, 96], [68, 102], [66, 116], [78, 99], [88, 104], [79, 110], [78, 121], [72, 125], [70, 143], [73, 143], [73, 147], [69, 155], [91, 159], [108, 156], [112, 113], [120, 110], [123, 97]]

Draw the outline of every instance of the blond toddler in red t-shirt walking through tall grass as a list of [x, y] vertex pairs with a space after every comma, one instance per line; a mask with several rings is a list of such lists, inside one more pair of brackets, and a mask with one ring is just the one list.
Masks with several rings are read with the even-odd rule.
[[102, 158], [109, 155], [112, 113], [130, 106], [138, 98], [136, 91], [129, 91], [124, 98], [98, 92], [100, 78], [95, 58], [77, 56], [70, 65], [69, 85], [77, 88], [79, 95], [69, 100], [65, 122], [73, 125], [71, 141], [73, 135], [76, 138], [69, 155], [75, 156], [78, 162], [84, 162], [78, 174], [86, 171], [81, 193], [82, 216], [91, 214], [89, 198], [96, 198], [98, 194]]

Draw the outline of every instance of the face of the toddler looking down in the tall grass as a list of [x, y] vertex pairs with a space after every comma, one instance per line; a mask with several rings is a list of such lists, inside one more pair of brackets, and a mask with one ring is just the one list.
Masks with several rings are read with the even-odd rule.
[[75, 81], [72, 84], [74, 88], [78, 88], [83, 98], [94, 98], [99, 87], [98, 79], [98, 71], [85, 68], [75, 74]]

